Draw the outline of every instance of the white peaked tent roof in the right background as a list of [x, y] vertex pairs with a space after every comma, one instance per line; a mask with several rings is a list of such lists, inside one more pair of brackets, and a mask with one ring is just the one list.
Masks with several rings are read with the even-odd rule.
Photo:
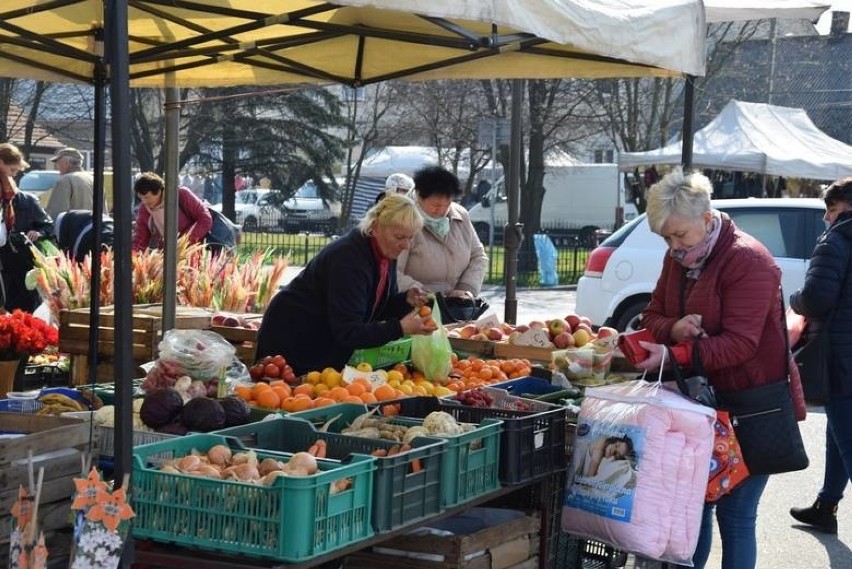
[[[831, 138], [804, 109], [730, 101], [693, 138], [693, 165], [773, 176], [836, 180], [852, 172], [852, 146]], [[618, 156], [622, 170], [680, 164], [682, 142]]]

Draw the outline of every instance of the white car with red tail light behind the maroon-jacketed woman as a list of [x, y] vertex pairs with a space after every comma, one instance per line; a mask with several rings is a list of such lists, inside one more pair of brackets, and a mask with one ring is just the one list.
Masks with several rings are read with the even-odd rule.
[[[817, 238], [825, 231], [825, 203], [814, 198], [713, 200], [746, 233], [775, 256], [785, 297], [802, 286]], [[594, 249], [577, 283], [578, 314], [619, 330], [639, 327], [667, 248], [651, 232], [645, 214]], [[786, 298], [785, 298], [786, 301]]]

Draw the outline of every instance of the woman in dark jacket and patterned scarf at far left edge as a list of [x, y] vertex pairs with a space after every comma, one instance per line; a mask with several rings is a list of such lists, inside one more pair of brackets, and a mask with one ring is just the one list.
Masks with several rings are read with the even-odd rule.
[[24, 284], [33, 268], [32, 244], [50, 237], [53, 221], [38, 199], [21, 192], [14, 176], [29, 168], [23, 154], [13, 144], [0, 144], [0, 266], [2, 266], [3, 305], [7, 311], [20, 308], [34, 312], [41, 304], [35, 290]]

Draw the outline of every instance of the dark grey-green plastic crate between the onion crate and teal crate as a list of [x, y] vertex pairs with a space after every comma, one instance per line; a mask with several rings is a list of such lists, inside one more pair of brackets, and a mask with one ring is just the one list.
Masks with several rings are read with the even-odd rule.
[[[343, 460], [353, 453], [369, 455], [376, 449], [388, 450], [394, 442], [363, 439], [337, 433], [318, 432], [308, 421], [292, 416], [280, 420], [250, 423], [222, 429], [215, 434], [237, 437], [251, 448], [297, 452], [323, 439], [327, 457]], [[390, 531], [443, 510], [441, 507], [441, 465], [447, 442], [417, 437], [405, 454], [376, 457], [373, 475], [373, 529]], [[412, 471], [412, 461], [420, 470]]]

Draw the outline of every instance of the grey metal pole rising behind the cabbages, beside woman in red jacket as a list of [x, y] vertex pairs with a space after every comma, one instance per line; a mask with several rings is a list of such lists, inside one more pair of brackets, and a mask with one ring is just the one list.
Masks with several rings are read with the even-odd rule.
[[[167, 77], [167, 80], [173, 77]], [[170, 81], [171, 82], [171, 81]], [[177, 87], [166, 87], [166, 205], [165, 242], [163, 252], [163, 332], [175, 327], [175, 304], [177, 303], [177, 235], [178, 235], [178, 130], [180, 128], [180, 91]]]

